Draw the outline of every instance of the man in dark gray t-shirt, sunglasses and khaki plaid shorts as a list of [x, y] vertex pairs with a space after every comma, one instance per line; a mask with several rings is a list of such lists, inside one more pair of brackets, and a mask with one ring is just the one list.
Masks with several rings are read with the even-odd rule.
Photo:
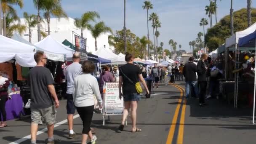
[[[46, 55], [39, 51], [34, 55], [37, 66], [29, 71], [27, 77], [31, 90], [31, 144], [36, 144], [38, 123], [44, 119], [48, 128], [48, 144], [54, 144], [53, 129], [56, 122], [55, 107], [59, 107], [59, 100], [54, 88], [53, 76], [45, 68]], [[53, 106], [55, 102], [55, 107]]]

